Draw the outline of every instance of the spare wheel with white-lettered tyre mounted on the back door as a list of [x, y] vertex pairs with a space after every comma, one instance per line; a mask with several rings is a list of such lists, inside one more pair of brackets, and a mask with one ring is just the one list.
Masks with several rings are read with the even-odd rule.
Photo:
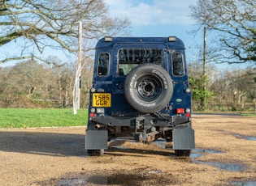
[[169, 103], [172, 92], [171, 77], [161, 66], [143, 64], [134, 68], [125, 78], [125, 98], [140, 112], [162, 110]]

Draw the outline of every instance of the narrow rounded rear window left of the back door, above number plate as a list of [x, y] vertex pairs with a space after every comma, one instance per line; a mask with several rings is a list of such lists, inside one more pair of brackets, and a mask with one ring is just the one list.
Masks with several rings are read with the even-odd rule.
[[97, 74], [99, 76], [105, 76], [109, 74], [110, 66], [110, 54], [109, 53], [100, 53], [98, 55], [98, 68]]

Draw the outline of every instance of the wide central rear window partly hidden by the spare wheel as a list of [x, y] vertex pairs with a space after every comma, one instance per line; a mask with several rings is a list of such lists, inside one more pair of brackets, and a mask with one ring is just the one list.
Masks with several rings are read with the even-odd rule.
[[119, 49], [118, 74], [127, 75], [133, 68], [143, 63], [163, 66], [162, 49]]

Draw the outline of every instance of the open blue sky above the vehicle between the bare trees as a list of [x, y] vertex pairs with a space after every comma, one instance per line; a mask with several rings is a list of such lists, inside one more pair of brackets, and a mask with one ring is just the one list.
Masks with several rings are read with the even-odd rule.
[[[197, 0], [103, 0], [109, 7], [110, 15], [127, 17], [131, 22], [132, 36], [177, 36], [183, 40], [187, 61], [197, 57], [195, 47], [203, 45], [203, 31], [194, 35], [198, 28], [189, 6]], [[207, 43], [213, 42], [213, 33], [207, 32]], [[197, 51], [198, 55], [198, 51]], [[216, 64], [219, 70], [235, 68], [235, 65]]]

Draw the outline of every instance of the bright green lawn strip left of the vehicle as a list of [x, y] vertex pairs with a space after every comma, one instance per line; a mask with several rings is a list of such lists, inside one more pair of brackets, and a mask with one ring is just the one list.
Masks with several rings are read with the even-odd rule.
[[0, 128], [87, 125], [87, 109], [0, 108]]

